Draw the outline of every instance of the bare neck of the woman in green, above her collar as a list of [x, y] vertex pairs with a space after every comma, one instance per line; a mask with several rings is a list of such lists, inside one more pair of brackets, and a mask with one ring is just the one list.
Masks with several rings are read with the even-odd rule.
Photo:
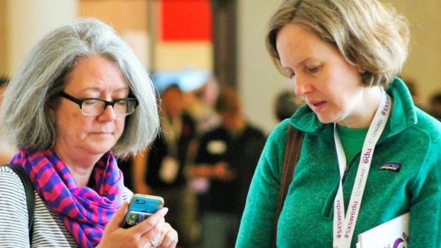
[[369, 127], [380, 106], [382, 91], [380, 87], [366, 87], [360, 93], [359, 101], [351, 113], [338, 122], [338, 125], [351, 128]]

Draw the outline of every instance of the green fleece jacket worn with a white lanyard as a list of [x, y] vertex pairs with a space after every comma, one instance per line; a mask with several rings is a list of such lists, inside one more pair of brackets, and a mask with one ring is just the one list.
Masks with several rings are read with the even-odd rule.
[[[351, 247], [358, 234], [410, 211], [409, 247], [441, 247], [441, 125], [413, 105], [396, 78], [388, 94], [393, 109], [376, 145]], [[334, 124], [323, 124], [302, 106], [275, 127], [256, 168], [236, 247], [271, 247], [285, 155], [287, 125], [305, 132], [294, 180], [277, 225], [278, 247], [332, 247], [334, 198], [339, 171]], [[345, 209], [360, 152], [343, 183]], [[400, 170], [380, 169], [398, 163]]]

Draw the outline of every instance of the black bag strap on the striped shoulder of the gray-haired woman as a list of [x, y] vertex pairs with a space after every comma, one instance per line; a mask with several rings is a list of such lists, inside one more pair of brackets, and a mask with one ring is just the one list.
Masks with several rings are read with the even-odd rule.
[[26, 194], [26, 205], [28, 207], [28, 230], [29, 230], [29, 241], [32, 243], [32, 224], [34, 223], [34, 211], [35, 211], [35, 195], [34, 195], [34, 186], [32, 185], [32, 182], [30, 181], [30, 178], [28, 174], [26, 174], [23, 167], [19, 165], [5, 165], [12, 169], [12, 171], [17, 174], [21, 180], [21, 183], [23, 183], [23, 187], [25, 189]]

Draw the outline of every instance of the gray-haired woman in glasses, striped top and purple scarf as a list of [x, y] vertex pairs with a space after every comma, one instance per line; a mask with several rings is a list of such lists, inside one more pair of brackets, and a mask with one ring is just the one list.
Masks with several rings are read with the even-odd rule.
[[132, 192], [115, 156], [149, 145], [159, 124], [150, 77], [110, 26], [80, 19], [44, 37], [8, 85], [1, 124], [36, 192], [28, 240], [23, 185], [0, 167], [1, 247], [176, 246], [166, 208], [121, 228]]

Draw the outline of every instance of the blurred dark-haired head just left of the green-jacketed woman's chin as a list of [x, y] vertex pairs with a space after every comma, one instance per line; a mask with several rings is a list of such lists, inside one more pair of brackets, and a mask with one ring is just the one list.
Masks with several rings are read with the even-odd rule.
[[274, 104], [274, 112], [276, 113], [277, 121], [283, 121], [296, 112], [299, 105], [296, 103], [296, 94], [294, 90], [283, 90], [276, 96]]

